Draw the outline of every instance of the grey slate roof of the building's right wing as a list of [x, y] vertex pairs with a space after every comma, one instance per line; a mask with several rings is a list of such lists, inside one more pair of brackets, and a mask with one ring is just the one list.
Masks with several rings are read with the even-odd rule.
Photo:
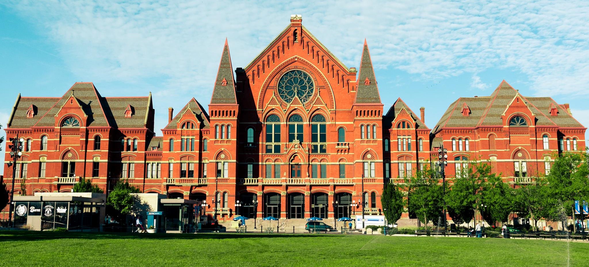
[[[458, 98], [448, 107], [432, 133], [436, 133], [444, 127], [501, 126], [503, 123], [501, 115], [516, 95], [519, 95], [518, 91], [504, 80], [488, 97]], [[558, 105], [550, 97], [519, 96], [535, 114], [537, 126], [583, 127], [571, 114], [568, 114], [564, 107]], [[469, 116], [462, 115], [464, 104], [468, 105], [471, 110]], [[552, 104], [558, 108], [557, 116], [550, 116]]]

